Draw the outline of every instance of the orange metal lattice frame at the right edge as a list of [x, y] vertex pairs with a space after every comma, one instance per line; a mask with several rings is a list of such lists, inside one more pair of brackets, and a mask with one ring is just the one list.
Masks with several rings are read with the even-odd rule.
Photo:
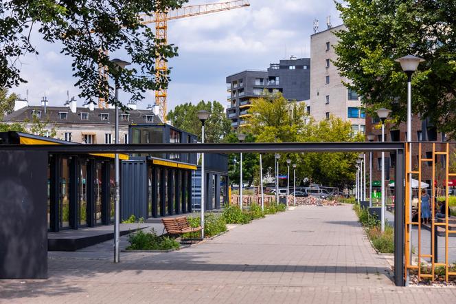
[[[405, 270], [415, 270], [418, 272], [418, 280], [421, 281], [422, 279], [430, 279], [431, 281], [434, 281], [437, 279], [436, 276], [436, 268], [437, 267], [443, 267], [445, 270], [445, 281], [448, 281], [448, 276], [456, 276], [456, 272], [451, 271], [451, 262], [448, 261], [448, 237], [450, 237], [451, 234], [456, 233], [456, 221], [454, 219], [451, 219], [451, 210], [449, 208], [449, 181], [451, 177], [455, 177], [456, 173], [450, 173], [450, 158], [451, 158], [451, 149], [450, 149], [450, 143], [445, 142], [445, 143], [429, 143], [432, 145], [432, 158], [429, 158], [429, 155], [427, 155], [425, 158], [422, 157], [422, 149], [424, 146], [424, 143], [413, 143], [413, 145], [418, 145], [418, 164], [415, 164], [416, 170], [414, 171], [413, 169], [409, 168], [408, 162], [405, 162], [405, 171], [406, 171], [406, 179], [405, 179], [405, 235], [404, 235], [404, 266]], [[440, 145], [441, 147], [444, 147], [442, 150], [443, 151], [437, 151], [436, 149], [436, 144]], [[405, 159], [407, 160], [409, 158], [409, 153], [411, 153], [412, 150], [412, 144], [411, 143], [406, 143], [405, 144]], [[429, 152], [428, 152], [429, 153]], [[445, 212], [445, 217], [443, 219], [437, 219], [436, 214], [435, 214], [435, 209], [436, 209], [436, 202], [437, 202], [437, 196], [439, 196], [439, 193], [437, 193], [437, 182], [436, 182], [436, 173], [437, 173], [437, 160], [436, 158], [438, 156], [442, 156], [444, 159], [442, 160], [442, 167], [440, 168], [440, 171], [444, 171], [444, 199], [446, 202], [446, 212]], [[430, 207], [431, 207], [431, 224], [430, 225], [424, 225], [422, 223], [422, 208], [421, 208], [421, 191], [422, 191], [422, 184], [421, 184], [421, 179], [422, 179], [422, 173], [423, 173], [423, 168], [422, 164], [424, 162], [427, 162], [431, 166], [431, 195], [430, 195]], [[412, 186], [409, 182], [409, 178], [413, 177], [415, 175], [418, 177], [418, 213], [416, 215], [417, 220], [413, 221], [413, 218], [410, 217], [410, 214], [408, 210], [411, 210], [411, 197], [410, 197], [410, 187]], [[442, 177], [441, 177], [442, 178]], [[413, 252], [416, 254], [416, 259], [413, 259], [413, 254], [411, 254], [410, 249], [411, 246], [411, 230], [410, 227], [416, 226], [418, 230], [418, 250], [417, 252]], [[425, 228], [426, 230], [429, 230], [431, 233], [431, 248], [429, 254], [423, 254], [422, 253], [422, 229]], [[443, 262], [438, 262], [437, 261], [437, 252], [435, 252], [435, 244], [437, 242], [437, 237], [439, 237], [439, 234], [441, 235], [444, 232], [444, 237], [445, 237], [445, 259], [444, 263]], [[438, 248], [437, 248], [438, 250]], [[423, 267], [422, 262], [424, 260], [422, 259], [429, 259], [430, 260], [430, 267]], [[415, 262], [415, 263], [414, 263]], [[429, 269], [429, 273], [423, 273], [424, 269]], [[407, 279], [407, 271], [405, 273], [405, 279]]]

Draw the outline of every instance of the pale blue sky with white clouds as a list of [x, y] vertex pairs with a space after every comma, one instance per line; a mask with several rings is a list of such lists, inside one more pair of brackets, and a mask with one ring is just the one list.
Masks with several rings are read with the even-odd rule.
[[[221, 0], [190, 0], [187, 5]], [[225, 1], [225, 0], [224, 0]], [[168, 41], [179, 47], [179, 56], [170, 60], [171, 82], [168, 87], [168, 110], [185, 102], [218, 100], [227, 102], [226, 77], [245, 69], [266, 70], [270, 63], [296, 56], [310, 56], [313, 21], [326, 30], [326, 17], [333, 26], [341, 24], [333, 0], [249, 0], [247, 8], [238, 8], [199, 17], [168, 22]], [[63, 105], [69, 96], [77, 97], [76, 78], [71, 76], [71, 58], [60, 54], [60, 45], [32, 41], [38, 56], [21, 59], [23, 78], [29, 82], [10, 91], [25, 97], [30, 105], [39, 105], [47, 96], [48, 105]], [[121, 55], [119, 55], [121, 56]], [[128, 60], [128, 58], [122, 58]], [[120, 98], [127, 100], [127, 96]], [[155, 102], [148, 91], [138, 107]], [[126, 102], [124, 102], [126, 103]]]

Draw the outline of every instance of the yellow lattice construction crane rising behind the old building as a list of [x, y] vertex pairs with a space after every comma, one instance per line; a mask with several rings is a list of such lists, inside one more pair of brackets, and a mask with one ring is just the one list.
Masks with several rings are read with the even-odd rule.
[[[234, 0], [219, 3], [201, 4], [196, 6], [184, 6], [177, 10], [170, 10], [169, 12], [155, 12], [152, 16], [147, 14], [139, 15], [142, 24], [155, 23], [155, 36], [156, 38], [166, 45], [168, 43], [168, 20], [182, 19], [187, 17], [199, 16], [202, 14], [211, 14], [214, 12], [223, 12], [225, 10], [233, 10], [235, 8], [243, 8], [250, 6], [249, 1]], [[166, 59], [162, 56], [157, 56], [155, 60], [155, 69], [157, 78], [161, 78], [168, 70]], [[158, 89], [155, 91], [155, 105], [159, 106], [159, 115], [166, 122], [166, 99], [168, 92], [166, 89]], [[106, 108], [106, 102], [99, 100], [98, 107]]]

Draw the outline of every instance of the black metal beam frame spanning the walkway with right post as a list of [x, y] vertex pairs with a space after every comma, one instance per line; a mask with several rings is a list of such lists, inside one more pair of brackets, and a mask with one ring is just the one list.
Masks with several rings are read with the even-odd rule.
[[[236, 144], [80, 144], [0, 145], [0, 151], [79, 153], [348, 153], [396, 152], [396, 208], [394, 213], [394, 282], [404, 286], [404, 142], [293, 142]], [[400, 207], [400, 208], [399, 208]]]

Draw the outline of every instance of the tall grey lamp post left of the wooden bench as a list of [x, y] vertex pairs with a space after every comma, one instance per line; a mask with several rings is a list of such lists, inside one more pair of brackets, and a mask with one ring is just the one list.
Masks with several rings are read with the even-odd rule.
[[[111, 63], [119, 71], [124, 69], [127, 65], [130, 65], [127, 61], [122, 61], [118, 58], [112, 59]], [[118, 73], [115, 74], [115, 142], [114, 144], [119, 144], [119, 76]], [[115, 171], [115, 199], [114, 199], [114, 263], [119, 263], [120, 261], [120, 232], [119, 232], [119, 223], [120, 223], [120, 164], [119, 164], [119, 154], [115, 153], [114, 156], [114, 171]]]

